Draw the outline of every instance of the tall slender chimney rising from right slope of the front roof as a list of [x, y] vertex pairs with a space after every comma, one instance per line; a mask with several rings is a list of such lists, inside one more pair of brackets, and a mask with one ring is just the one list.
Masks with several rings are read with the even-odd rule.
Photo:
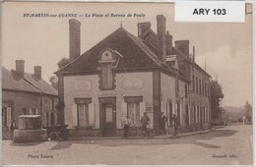
[[165, 21], [166, 19], [163, 15], [157, 16], [158, 56], [163, 63], [166, 63]]

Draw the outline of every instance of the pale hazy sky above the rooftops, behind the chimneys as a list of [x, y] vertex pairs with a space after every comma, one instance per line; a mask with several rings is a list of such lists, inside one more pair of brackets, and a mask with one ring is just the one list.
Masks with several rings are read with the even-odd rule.
[[[24, 14], [131, 14], [132, 17], [81, 17], [81, 53], [122, 26], [137, 35], [137, 24], [151, 22], [157, 31], [157, 15], [166, 18], [166, 30], [174, 40], [189, 39], [190, 53], [196, 48], [196, 63], [222, 85], [222, 105], [243, 106], [252, 102], [252, 16], [245, 23], [174, 22], [173, 4], [99, 3], [14, 3], [5, 2], [2, 11], [2, 65], [15, 69], [15, 60], [25, 60], [25, 71], [42, 67], [42, 78], [49, 81], [57, 62], [69, 57], [69, 19], [26, 18]], [[134, 15], [136, 14], [136, 15]], [[140, 17], [144, 16], [144, 17]]]

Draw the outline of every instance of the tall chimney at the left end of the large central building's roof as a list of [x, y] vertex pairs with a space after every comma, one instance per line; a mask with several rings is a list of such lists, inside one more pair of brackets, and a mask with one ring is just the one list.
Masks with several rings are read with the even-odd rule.
[[70, 61], [80, 56], [80, 22], [69, 20], [69, 58]]

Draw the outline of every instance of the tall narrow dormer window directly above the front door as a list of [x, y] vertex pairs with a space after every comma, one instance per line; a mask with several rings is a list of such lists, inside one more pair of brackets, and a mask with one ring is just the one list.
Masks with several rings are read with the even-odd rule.
[[101, 80], [102, 80], [102, 88], [108, 89], [113, 87], [113, 77], [112, 77], [112, 64], [104, 63], [101, 65]]

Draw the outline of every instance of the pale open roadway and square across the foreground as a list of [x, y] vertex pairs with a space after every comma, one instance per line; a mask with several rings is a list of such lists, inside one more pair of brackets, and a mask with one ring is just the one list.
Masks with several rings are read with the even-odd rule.
[[4, 164], [249, 165], [252, 126], [227, 126], [179, 139], [3, 140]]

